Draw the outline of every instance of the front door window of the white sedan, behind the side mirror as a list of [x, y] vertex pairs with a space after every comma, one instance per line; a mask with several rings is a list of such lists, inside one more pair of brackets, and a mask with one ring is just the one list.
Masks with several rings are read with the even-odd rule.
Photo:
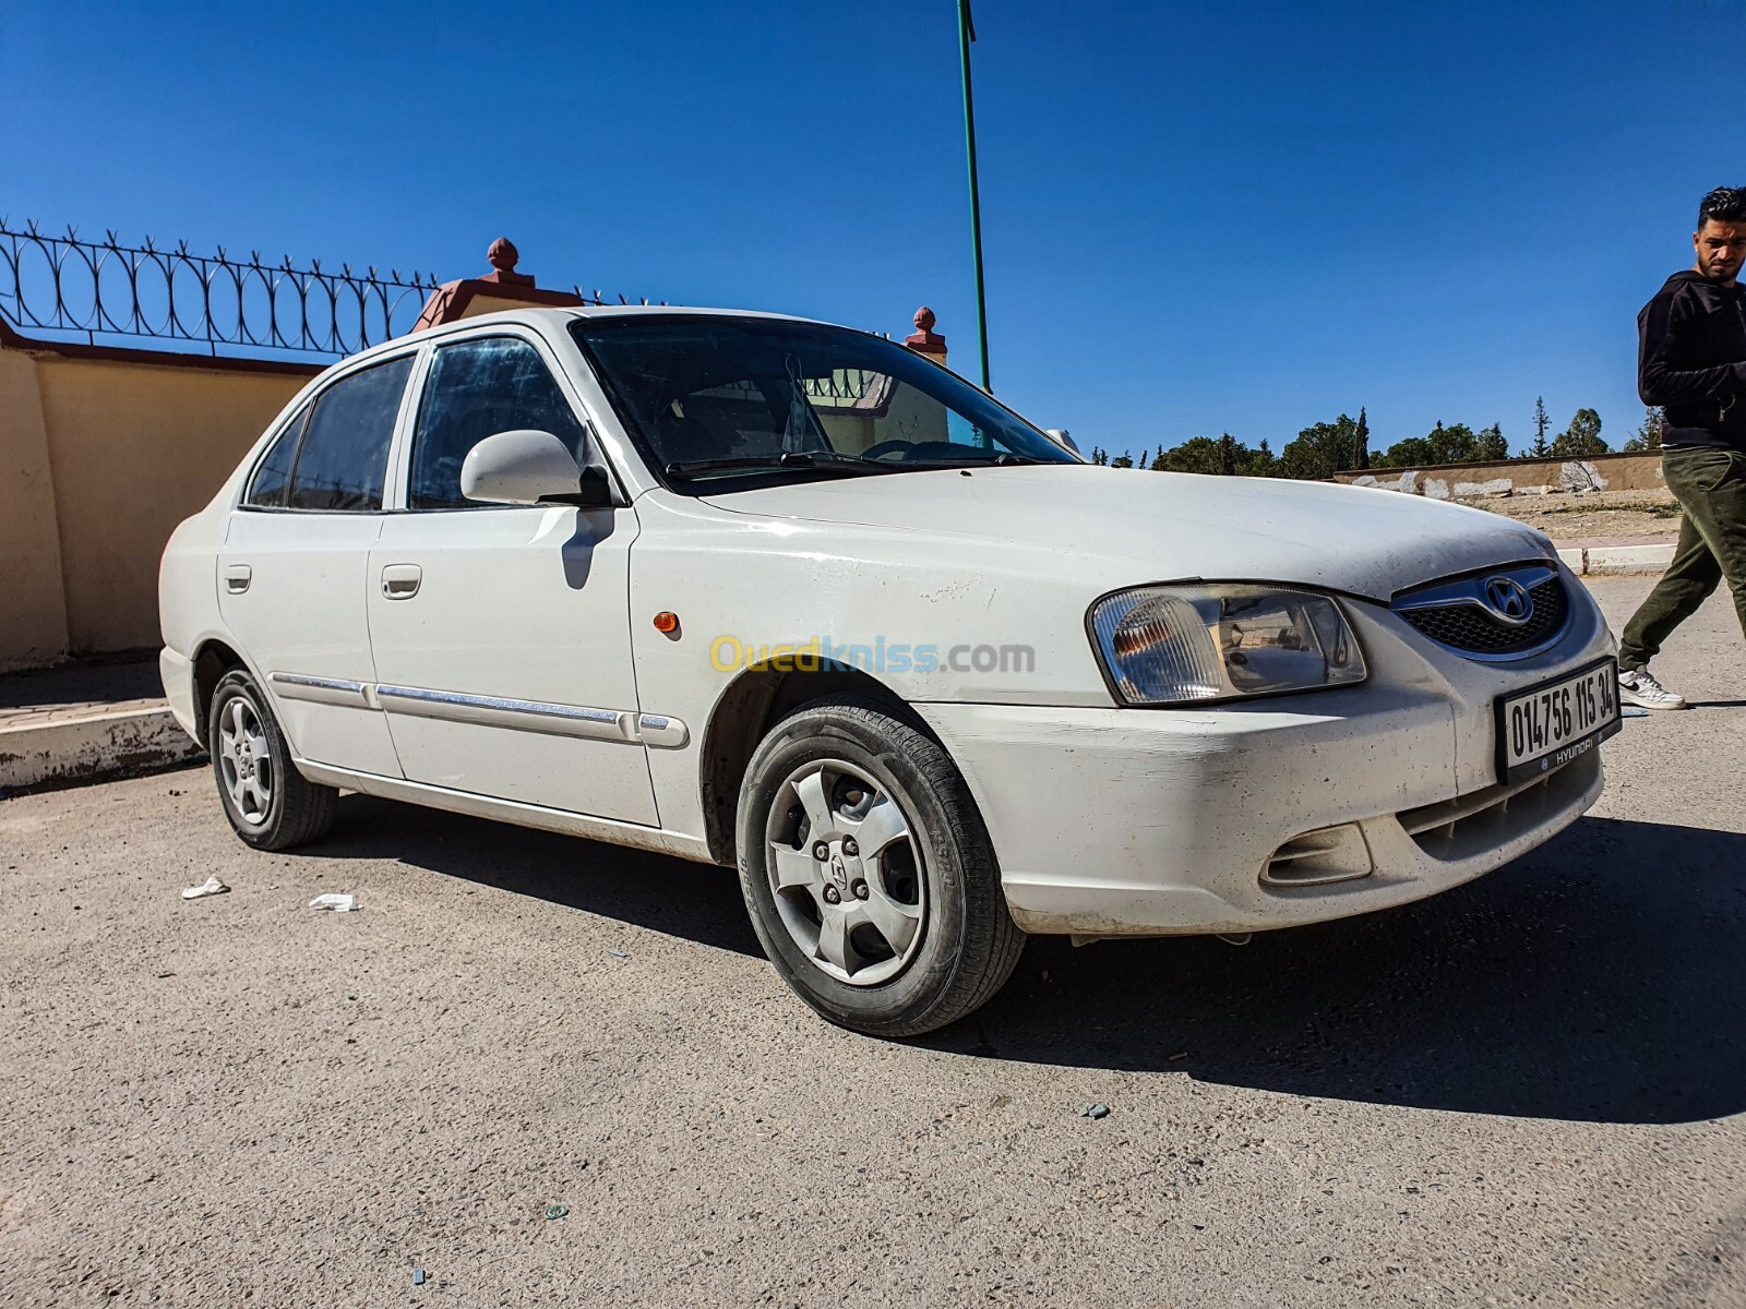
[[487, 436], [550, 431], [580, 457], [583, 431], [540, 351], [519, 337], [443, 346], [431, 361], [412, 436], [414, 510], [477, 508], [461, 496], [461, 463]]

